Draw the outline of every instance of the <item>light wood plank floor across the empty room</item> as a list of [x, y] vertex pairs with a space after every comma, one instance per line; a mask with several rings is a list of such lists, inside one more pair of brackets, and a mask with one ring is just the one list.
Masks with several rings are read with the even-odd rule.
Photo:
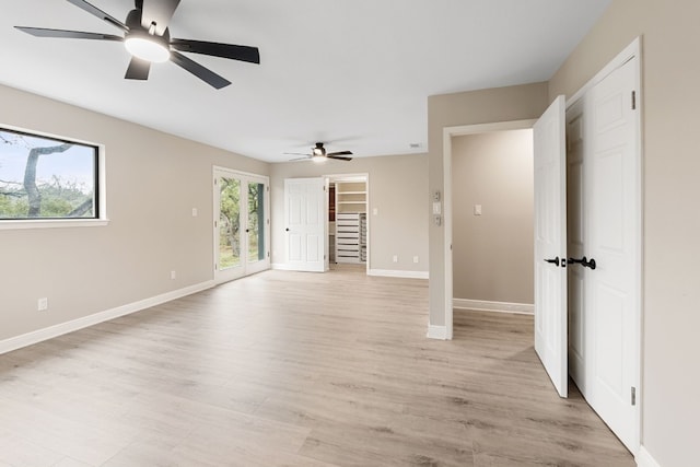
[[443, 342], [427, 308], [423, 280], [266, 271], [0, 355], [0, 467], [634, 465], [532, 317]]

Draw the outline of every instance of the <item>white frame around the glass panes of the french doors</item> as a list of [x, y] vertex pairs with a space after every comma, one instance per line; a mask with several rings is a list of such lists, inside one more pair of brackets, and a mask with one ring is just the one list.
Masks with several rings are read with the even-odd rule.
[[[265, 223], [262, 225], [262, 229], [265, 229], [265, 233], [264, 233], [264, 237], [265, 237], [265, 245], [262, 245], [262, 247], [265, 248], [265, 260], [261, 261], [261, 265], [256, 265], [254, 267], [249, 267], [248, 262], [247, 262], [247, 257], [242, 258], [241, 261], [241, 273], [235, 276], [235, 277], [224, 277], [218, 273], [218, 267], [217, 267], [217, 261], [219, 258], [219, 250], [218, 250], [218, 235], [219, 235], [219, 230], [215, 225], [218, 225], [217, 223], [219, 222], [219, 219], [217, 219], [215, 214], [217, 212], [219, 212], [220, 207], [219, 205], [219, 194], [217, 192], [217, 190], [219, 189], [219, 187], [214, 184], [212, 184], [212, 202], [213, 202], [213, 210], [212, 210], [212, 230], [213, 230], [213, 247], [212, 247], [212, 269], [213, 269], [213, 279], [214, 282], [217, 283], [223, 283], [223, 282], [228, 282], [230, 280], [235, 280], [235, 279], [240, 279], [242, 277], [255, 273], [255, 272], [259, 272], [261, 270], [266, 270], [266, 269], [270, 269], [270, 177], [268, 177], [267, 175], [259, 175], [259, 174], [253, 174], [249, 172], [241, 172], [241, 171], [236, 171], [233, 168], [229, 168], [229, 167], [223, 167], [223, 166], [219, 166], [219, 165], [213, 165], [212, 166], [212, 182], [217, 178], [218, 175], [222, 175], [222, 174], [229, 174], [231, 175], [231, 177], [233, 178], [238, 178], [242, 184], [243, 183], [264, 183], [266, 190], [265, 190], [265, 199], [264, 199], [264, 209], [265, 209]], [[246, 200], [246, 206], [247, 206], [247, 200]], [[247, 210], [246, 210], [247, 212]], [[247, 215], [243, 215], [243, 227], [247, 227]], [[245, 241], [245, 246], [247, 247], [247, 238]], [[246, 248], [247, 249], [247, 248]], [[241, 249], [243, 252], [243, 248]]]

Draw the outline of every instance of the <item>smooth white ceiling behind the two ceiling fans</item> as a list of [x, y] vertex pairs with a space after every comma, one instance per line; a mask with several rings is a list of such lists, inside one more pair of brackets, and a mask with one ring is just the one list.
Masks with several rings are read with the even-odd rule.
[[[269, 162], [315, 141], [427, 152], [429, 95], [548, 80], [609, 1], [183, 0], [173, 37], [260, 49], [259, 66], [189, 55], [233, 82], [217, 91], [173, 63], [124, 80], [120, 43], [12, 26], [119, 30], [65, 0], [4, 0], [0, 83]], [[133, 7], [92, 3], [120, 20]]]

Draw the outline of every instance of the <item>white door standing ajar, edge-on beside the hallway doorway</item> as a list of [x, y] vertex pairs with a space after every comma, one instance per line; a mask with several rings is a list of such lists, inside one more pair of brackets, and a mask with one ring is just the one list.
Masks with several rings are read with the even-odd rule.
[[561, 397], [569, 389], [564, 114], [559, 96], [534, 126], [535, 350]]

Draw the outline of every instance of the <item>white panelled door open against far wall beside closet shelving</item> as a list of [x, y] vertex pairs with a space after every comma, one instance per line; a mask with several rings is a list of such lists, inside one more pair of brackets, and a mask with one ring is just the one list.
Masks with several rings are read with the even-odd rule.
[[284, 180], [288, 268], [325, 271], [326, 191], [324, 178]]

